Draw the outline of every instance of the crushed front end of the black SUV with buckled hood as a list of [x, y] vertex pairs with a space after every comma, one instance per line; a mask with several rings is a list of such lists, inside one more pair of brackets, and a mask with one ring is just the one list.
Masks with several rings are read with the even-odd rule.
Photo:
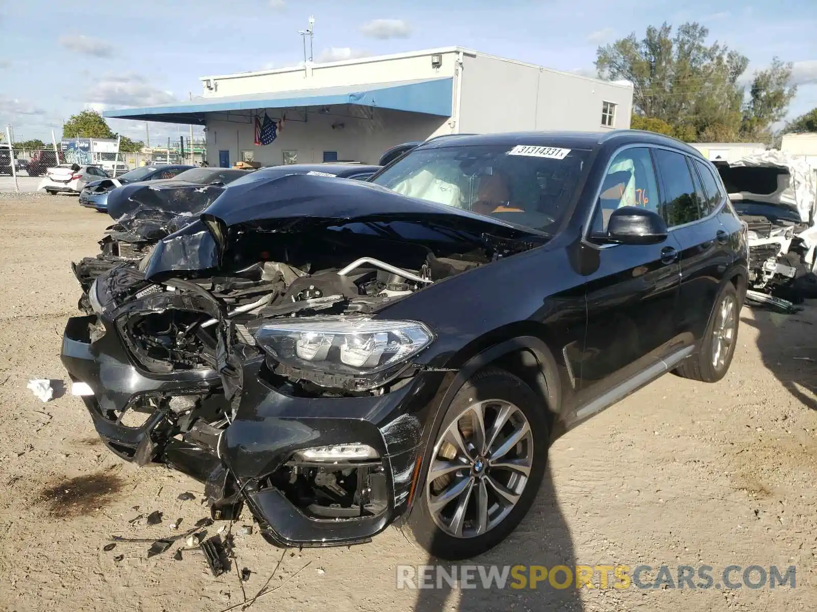
[[[381, 313], [531, 243], [351, 181], [274, 187], [297, 215], [220, 200], [223, 215], [100, 276], [62, 360], [105, 444], [204, 482], [213, 517], [246, 507], [279, 545], [361, 543], [408, 508], [424, 424], [453, 379], [419, 359], [434, 330]], [[327, 214], [352, 200], [362, 213]]]

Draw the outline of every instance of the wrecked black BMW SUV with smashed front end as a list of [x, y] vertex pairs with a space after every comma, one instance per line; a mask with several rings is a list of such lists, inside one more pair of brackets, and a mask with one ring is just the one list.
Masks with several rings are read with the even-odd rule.
[[746, 229], [639, 131], [452, 136], [360, 183], [235, 181], [100, 276], [62, 361], [114, 453], [205, 483], [279, 545], [400, 521], [473, 557], [556, 437], [667, 372], [729, 369]]

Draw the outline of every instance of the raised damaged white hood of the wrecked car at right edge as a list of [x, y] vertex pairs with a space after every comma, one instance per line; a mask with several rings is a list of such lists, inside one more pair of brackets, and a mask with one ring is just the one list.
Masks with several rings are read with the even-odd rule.
[[803, 223], [815, 220], [815, 173], [805, 160], [770, 149], [717, 168], [733, 202], [783, 206]]

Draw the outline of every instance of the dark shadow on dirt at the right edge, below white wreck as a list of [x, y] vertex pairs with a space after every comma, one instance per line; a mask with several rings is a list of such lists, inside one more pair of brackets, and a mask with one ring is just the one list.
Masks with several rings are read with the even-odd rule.
[[[817, 311], [807, 306], [801, 313], [775, 313], [743, 309], [740, 324], [758, 331], [757, 348], [763, 365], [775, 375], [792, 397], [817, 410]], [[739, 336], [740, 337], [740, 336]], [[807, 392], [807, 391], [810, 391]]]

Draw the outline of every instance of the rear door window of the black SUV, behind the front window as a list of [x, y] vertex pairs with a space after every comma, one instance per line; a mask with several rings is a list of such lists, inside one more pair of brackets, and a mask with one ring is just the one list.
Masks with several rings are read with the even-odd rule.
[[682, 153], [654, 149], [655, 163], [661, 176], [661, 206], [659, 213], [668, 227], [691, 223], [701, 218], [699, 195]]

